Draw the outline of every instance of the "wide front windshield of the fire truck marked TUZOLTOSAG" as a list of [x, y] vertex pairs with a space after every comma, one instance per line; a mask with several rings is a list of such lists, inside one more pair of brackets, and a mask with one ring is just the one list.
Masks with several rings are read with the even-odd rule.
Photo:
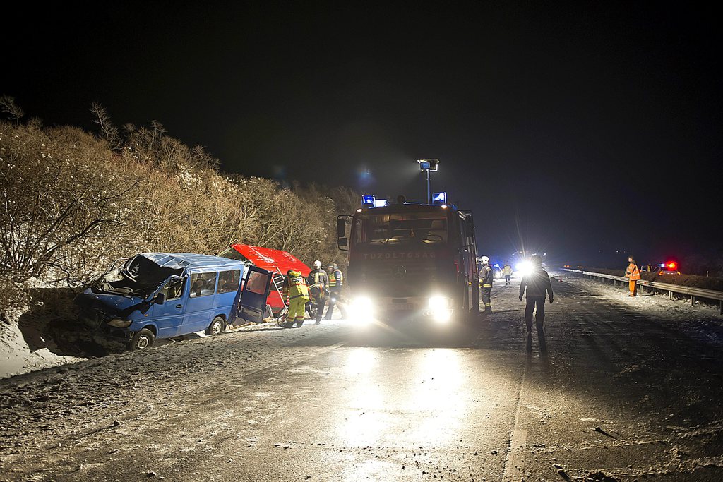
[[439, 211], [368, 215], [356, 225], [356, 244], [446, 244], [447, 218]]

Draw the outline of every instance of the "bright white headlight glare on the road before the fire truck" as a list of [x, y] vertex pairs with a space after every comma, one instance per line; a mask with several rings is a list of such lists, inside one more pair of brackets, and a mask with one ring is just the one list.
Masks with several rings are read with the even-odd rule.
[[[453, 444], [460, 438], [470, 394], [455, 350], [437, 348], [383, 356], [371, 348], [349, 351], [343, 370], [353, 383], [338, 440], [347, 447], [416, 447]], [[424, 441], [424, 442], [422, 442]], [[347, 481], [374, 480], [389, 462], [359, 461], [344, 473]]]

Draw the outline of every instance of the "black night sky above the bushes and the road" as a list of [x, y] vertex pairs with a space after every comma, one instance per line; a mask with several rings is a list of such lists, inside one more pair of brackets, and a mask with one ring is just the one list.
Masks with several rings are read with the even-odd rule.
[[487, 254], [717, 249], [718, 16], [631, 3], [27, 4], [0, 93], [46, 125], [90, 129], [98, 101], [225, 171], [377, 196], [422, 199], [415, 160], [439, 158], [433, 189]]

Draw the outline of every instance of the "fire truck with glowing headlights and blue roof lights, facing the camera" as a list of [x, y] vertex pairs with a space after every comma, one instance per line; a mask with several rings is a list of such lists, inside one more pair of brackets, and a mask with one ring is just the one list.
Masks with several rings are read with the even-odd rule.
[[338, 216], [349, 313], [359, 322], [445, 324], [479, 314], [472, 212], [432, 199], [442, 202], [388, 204], [365, 196], [354, 215]]

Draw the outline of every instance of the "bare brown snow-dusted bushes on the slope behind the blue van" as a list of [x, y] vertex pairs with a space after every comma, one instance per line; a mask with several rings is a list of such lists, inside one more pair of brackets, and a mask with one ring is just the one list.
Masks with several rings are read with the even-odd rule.
[[77, 287], [144, 251], [218, 254], [239, 242], [346, 265], [335, 216], [358, 207], [353, 190], [225, 176], [202, 147], [158, 123], [121, 134], [100, 106], [93, 111], [97, 137], [0, 121], [0, 296], [12, 291], [8, 304], [31, 277]]

